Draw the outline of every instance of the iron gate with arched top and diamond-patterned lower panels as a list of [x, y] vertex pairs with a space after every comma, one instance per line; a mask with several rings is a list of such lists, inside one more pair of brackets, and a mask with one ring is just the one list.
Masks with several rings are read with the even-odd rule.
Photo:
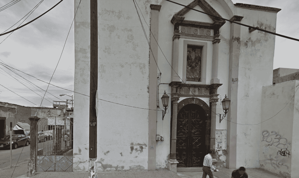
[[73, 171], [73, 123], [68, 118], [37, 122], [37, 172]]

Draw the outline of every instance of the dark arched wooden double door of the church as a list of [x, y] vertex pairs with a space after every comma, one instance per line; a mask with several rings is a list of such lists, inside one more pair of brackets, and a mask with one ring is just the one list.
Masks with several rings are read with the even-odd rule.
[[206, 155], [206, 115], [197, 104], [187, 104], [177, 116], [177, 167], [202, 167]]

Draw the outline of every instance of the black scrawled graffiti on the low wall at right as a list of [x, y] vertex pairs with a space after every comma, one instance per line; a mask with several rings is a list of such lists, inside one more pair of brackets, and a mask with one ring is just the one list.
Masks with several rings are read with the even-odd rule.
[[271, 164], [275, 170], [283, 166], [288, 169], [289, 166], [286, 163], [289, 162], [289, 156], [291, 155], [288, 150], [291, 143], [288, 142], [288, 139], [281, 137], [275, 131], [264, 130], [262, 132], [262, 142], [265, 142], [265, 159], [260, 160], [261, 163]]

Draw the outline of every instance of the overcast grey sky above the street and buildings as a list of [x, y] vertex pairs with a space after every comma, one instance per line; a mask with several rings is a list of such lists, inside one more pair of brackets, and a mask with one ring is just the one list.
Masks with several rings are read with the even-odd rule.
[[[0, 7], [12, 0], [1, 0]], [[16, 0], [19, 1], [19, 0]], [[0, 33], [10, 28], [13, 24], [23, 18], [41, 0], [21, 0], [5, 10], [0, 9]], [[41, 15], [59, 0], [45, 0], [39, 7], [25, 20], [27, 23]], [[137, 1], [138, 2], [138, 1]], [[277, 14], [276, 33], [299, 38], [299, 1], [297, 0], [232, 0], [235, 3], [254, 4], [259, 6], [276, 7], [282, 9]], [[133, 5], [133, 4], [132, 4]], [[9, 34], [0, 37], [0, 62], [14, 67], [20, 71], [28, 73], [40, 80], [49, 82], [58, 63], [63, 50], [63, 45], [67, 38], [67, 33], [74, 18], [74, 0], [64, 0], [54, 9], [43, 15], [38, 20], [13, 32], [5, 41]], [[23, 19], [24, 20], [24, 19]], [[17, 23], [16, 28], [23, 20]], [[250, 24], [248, 24], [250, 25]], [[13, 29], [11, 28], [11, 29]], [[9, 29], [9, 30], [11, 30]], [[298, 64], [298, 41], [289, 40], [276, 36], [275, 55], [273, 69], [299, 68]], [[74, 24], [67, 38], [63, 54], [51, 80], [51, 84], [73, 90], [74, 89]], [[8, 73], [7, 73], [8, 72]], [[34, 77], [16, 71], [19, 75], [37, 85], [41, 89], [17, 76], [7, 68], [0, 65], [0, 84], [19, 94], [27, 100], [12, 93], [8, 89], [0, 86], [0, 101], [18, 104], [21, 106], [41, 105], [41, 99], [47, 89], [48, 84], [41, 82]], [[12, 76], [11, 76], [12, 75]], [[21, 81], [21, 84], [19, 81]], [[31, 89], [31, 90], [30, 90]], [[36, 93], [34, 93], [36, 92]], [[66, 101], [71, 99], [68, 96], [60, 97], [59, 94], [72, 96], [72, 92], [49, 86], [47, 90], [51, 94], [46, 94], [42, 106], [51, 106], [54, 101]], [[40, 96], [39, 96], [40, 95]], [[102, 98], [105, 99], [105, 98]], [[32, 102], [32, 103], [31, 103]]]

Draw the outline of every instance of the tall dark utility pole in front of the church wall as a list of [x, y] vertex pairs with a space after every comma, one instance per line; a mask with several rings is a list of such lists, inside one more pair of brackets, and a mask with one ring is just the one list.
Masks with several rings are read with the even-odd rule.
[[90, 0], [89, 178], [97, 178], [98, 0]]

